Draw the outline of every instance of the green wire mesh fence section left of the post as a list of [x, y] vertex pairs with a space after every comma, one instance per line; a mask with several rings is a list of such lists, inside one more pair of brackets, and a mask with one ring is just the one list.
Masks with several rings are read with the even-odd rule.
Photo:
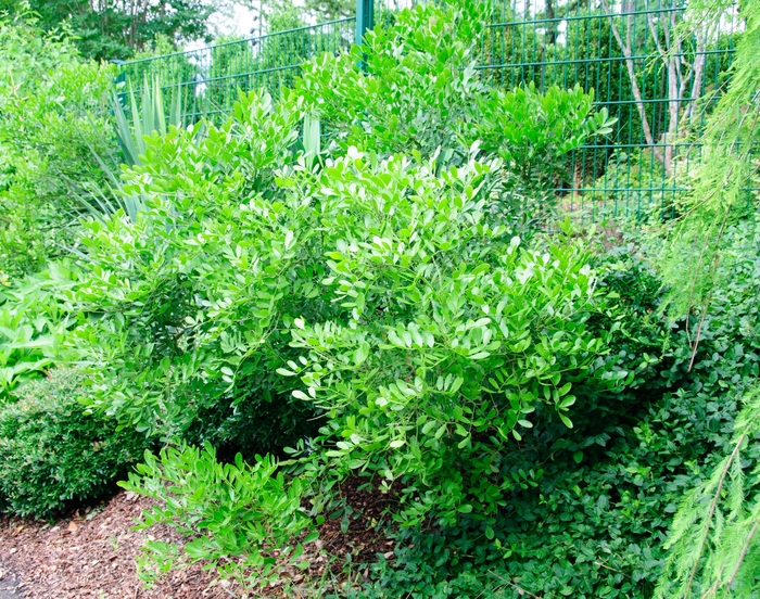
[[303, 62], [322, 52], [341, 52], [354, 42], [355, 18], [288, 29], [198, 50], [125, 63], [123, 79], [138, 95], [148, 81], [164, 89], [166, 101], [179, 91], [188, 119], [229, 114], [238, 90], [263, 89], [273, 98], [292, 86]]

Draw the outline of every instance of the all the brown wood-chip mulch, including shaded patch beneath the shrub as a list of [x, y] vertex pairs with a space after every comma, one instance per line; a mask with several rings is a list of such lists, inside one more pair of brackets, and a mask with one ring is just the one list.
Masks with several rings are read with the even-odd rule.
[[[378, 555], [393, 557], [393, 541], [382, 533], [382, 511], [393, 494], [358, 490], [364, 481], [349, 479], [341, 485], [349, 515], [328, 518], [319, 540], [304, 548], [312, 562], [306, 572], [286, 571], [266, 592], [249, 597], [319, 597], [334, 584], [351, 585], [342, 570], [352, 562], [371, 562]], [[54, 523], [0, 517], [0, 581], [7, 581], [8, 598], [15, 599], [229, 599], [243, 590], [219, 581], [200, 564], [164, 575], [151, 589], [137, 575], [136, 557], [148, 539], [179, 543], [166, 526], [131, 531], [136, 519], [152, 500], [121, 493], [93, 508], [77, 510]], [[347, 523], [347, 530], [345, 524]], [[364, 571], [366, 577], [368, 571]], [[10, 585], [13, 582], [13, 586]], [[360, 581], [358, 581], [360, 583]], [[357, 581], [354, 582], [356, 584]], [[325, 586], [327, 585], [327, 587]], [[2, 586], [2, 585], [0, 585]], [[12, 594], [12, 592], [15, 592]], [[0, 599], [5, 596], [0, 592]]]

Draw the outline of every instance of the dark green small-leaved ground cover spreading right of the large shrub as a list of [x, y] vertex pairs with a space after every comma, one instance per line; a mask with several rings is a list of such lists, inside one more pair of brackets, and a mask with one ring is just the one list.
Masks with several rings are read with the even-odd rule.
[[[632, 309], [612, 352], [628, 352], [623, 365], [646, 353], [656, 361], [642, 364], [625, 393], [585, 404], [591, 413], [578, 420], [579, 436], [534, 439], [533, 449], [525, 448], [527, 456], [539, 451], [544, 476], [515, 506], [502, 540], [507, 572], [523, 588], [548, 597], [563, 589], [571, 597], [651, 597], [662, 576], [671, 517], [684, 493], [709, 475], [718, 461], [711, 454], [733, 448], [738, 400], [759, 374], [757, 225], [731, 231], [730, 240], [743, 257], [722, 267], [727, 283], [715, 293], [694, 364], [686, 322], [671, 329], [657, 315], [653, 291], [660, 285], [650, 271], [599, 265], [608, 271], [605, 284], [628, 290], [621, 302]], [[637, 258], [628, 256], [636, 256], [636, 248], [620, 253], [635, 265]], [[642, 322], [649, 313], [651, 320]], [[579, 400], [588, 402], [584, 395], [579, 391]], [[753, 449], [745, 458], [758, 456]]]

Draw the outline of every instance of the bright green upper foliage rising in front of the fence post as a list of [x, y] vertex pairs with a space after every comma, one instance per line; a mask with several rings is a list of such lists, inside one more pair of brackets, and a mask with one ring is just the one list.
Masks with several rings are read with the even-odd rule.
[[533, 225], [553, 213], [550, 190], [569, 177], [562, 157], [609, 133], [613, 120], [594, 112], [593, 94], [580, 87], [542, 94], [532, 84], [509, 92], [484, 86], [476, 65], [486, 7], [431, 2], [401, 11], [365, 46], [304, 65], [295, 90], [343, 152], [440, 151], [440, 165], [459, 165], [482, 141], [484, 155], [505, 161], [506, 212]]

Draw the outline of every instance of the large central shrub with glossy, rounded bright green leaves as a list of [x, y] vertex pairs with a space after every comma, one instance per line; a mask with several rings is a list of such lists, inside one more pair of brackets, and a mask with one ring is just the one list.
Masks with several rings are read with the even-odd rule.
[[[494, 538], [499, 510], [541, 477], [540, 469], [518, 480], [508, 471], [516, 444], [540, 422], [536, 413], [572, 426], [575, 385], [615, 387], [626, 372], [604, 359], [615, 326], [597, 333], [586, 324], [615, 303], [599, 289], [583, 243], [561, 234], [531, 246], [512, 228], [504, 192], [528, 155], [478, 143], [503, 122], [474, 129], [467, 119], [479, 111], [453, 119], [444, 110], [463, 97], [477, 106], [479, 95], [493, 100], [494, 111], [533, 114], [543, 110], [535, 90], [503, 98], [468, 87], [459, 78], [472, 72], [433, 52], [430, 60], [443, 62], [427, 80], [442, 91], [420, 100], [419, 128], [392, 127], [373, 143], [384, 94], [405, 89], [415, 73], [393, 71], [393, 61], [440, 50], [449, 41], [435, 24], [464, 30], [451, 26], [457, 15], [432, 4], [400, 14], [383, 42], [387, 64], [371, 77], [353, 59], [325, 59], [324, 69], [307, 68], [303, 85], [277, 104], [241, 94], [221, 125], [145, 140], [142, 164], [123, 171], [123, 190], [140, 199], [141, 211], [90, 221], [80, 239], [87, 259], [73, 301], [98, 315], [83, 318], [74, 333], [94, 366], [89, 409], [169, 443], [216, 443], [235, 430], [230, 411], [266, 407], [266, 417], [251, 418], [240, 432], [250, 448], [294, 446], [301, 477], [288, 481], [303, 486], [311, 515], [331, 505], [342, 480], [363, 474], [396, 494], [403, 526], [471, 519], [479, 535]], [[417, 22], [429, 26], [417, 29]], [[410, 36], [420, 46], [408, 39], [394, 54], [393, 44]], [[319, 106], [333, 106], [322, 93], [330, 77], [344, 80], [342, 69], [356, 92], [341, 101], [363, 98], [364, 116], [355, 104], [341, 104], [341, 114]], [[383, 79], [391, 71], [395, 84]], [[562, 139], [580, 143], [604, 131], [606, 118], [592, 114], [587, 94], [553, 93], [552, 111], [578, 107], [580, 115], [571, 120], [578, 130]], [[391, 100], [391, 110], [406, 102]], [[539, 123], [545, 114], [536, 114]], [[324, 151], [306, 148], [306, 123], [315, 117], [333, 136]], [[463, 126], [439, 131], [445, 143], [416, 143], [429, 125]], [[567, 151], [555, 141], [544, 138]], [[313, 428], [280, 430], [283, 422]], [[309, 443], [299, 438], [304, 432]], [[170, 495], [189, 487], [164, 494], [160, 483], [195, 468], [194, 450], [182, 447], [153, 460], [142, 482], [132, 476], [130, 488], [150, 487], [176, 507]], [[206, 474], [224, 474], [215, 460]], [[228, 486], [235, 511], [240, 493]], [[193, 501], [200, 514], [218, 512], [203, 494]], [[233, 521], [226, 520], [226, 533], [235, 533]], [[194, 533], [203, 534], [205, 522], [194, 522]], [[261, 523], [276, 524], [269, 515]], [[221, 544], [215, 558], [257, 550], [214, 538]], [[165, 547], [157, 552], [161, 563], [174, 556]]]

